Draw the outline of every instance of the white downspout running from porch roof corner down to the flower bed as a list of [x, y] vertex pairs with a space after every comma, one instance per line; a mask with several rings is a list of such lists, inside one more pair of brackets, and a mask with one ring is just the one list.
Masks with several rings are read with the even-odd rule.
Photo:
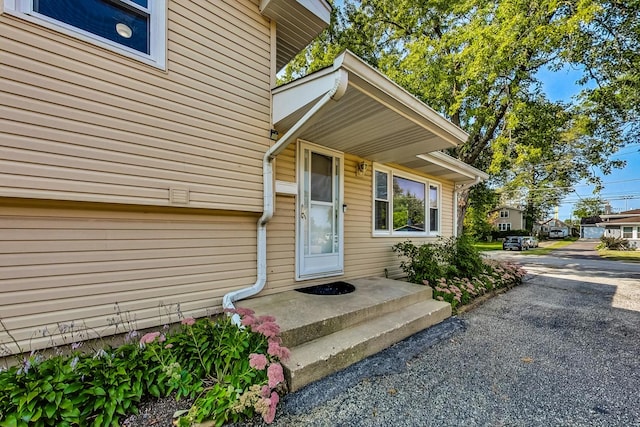
[[[275, 191], [273, 180], [273, 160], [280, 154], [290, 143], [296, 140], [300, 133], [309, 125], [311, 118], [318, 114], [329, 101], [339, 101], [347, 90], [348, 73], [345, 70], [337, 70], [334, 72], [335, 80], [333, 87], [313, 106], [300, 120], [294, 124], [273, 146], [267, 150], [262, 158], [262, 179], [263, 179], [263, 212], [258, 219], [258, 235], [257, 235], [257, 278], [256, 282], [247, 288], [239, 289], [227, 293], [222, 298], [222, 307], [225, 309], [235, 308], [233, 303], [256, 295], [264, 288], [267, 283], [267, 223], [273, 218], [275, 211]], [[240, 325], [240, 316], [234, 314], [232, 322]]]

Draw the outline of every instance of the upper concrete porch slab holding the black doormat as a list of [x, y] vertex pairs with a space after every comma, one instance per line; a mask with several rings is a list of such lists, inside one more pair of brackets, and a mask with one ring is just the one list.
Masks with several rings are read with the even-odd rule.
[[344, 295], [286, 291], [241, 301], [238, 306], [276, 318], [283, 345], [293, 348], [350, 326], [431, 300], [429, 286], [380, 277], [347, 280], [356, 290]]

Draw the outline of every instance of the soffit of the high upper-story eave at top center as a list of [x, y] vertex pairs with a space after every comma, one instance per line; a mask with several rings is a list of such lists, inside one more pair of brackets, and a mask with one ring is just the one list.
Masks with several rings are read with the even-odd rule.
[[326, 0], [262, 0], [260, 11], [276, 22], [278, 70], [311, 43], [331, 20], [331, 5]]

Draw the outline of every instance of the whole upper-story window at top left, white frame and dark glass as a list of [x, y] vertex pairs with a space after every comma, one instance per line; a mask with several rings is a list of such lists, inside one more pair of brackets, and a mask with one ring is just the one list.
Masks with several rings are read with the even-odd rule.
[[166, 0], [5, 0], [9, 13], [165, 67]]

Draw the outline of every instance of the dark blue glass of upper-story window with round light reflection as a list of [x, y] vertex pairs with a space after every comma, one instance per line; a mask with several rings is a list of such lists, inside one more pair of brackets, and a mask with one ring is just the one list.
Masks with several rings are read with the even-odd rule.
[[[138, 2], [141, 4], [145, 2]], [[34, 0], [34, 12], [149, 53], [149, 16], [108, 0]]]

